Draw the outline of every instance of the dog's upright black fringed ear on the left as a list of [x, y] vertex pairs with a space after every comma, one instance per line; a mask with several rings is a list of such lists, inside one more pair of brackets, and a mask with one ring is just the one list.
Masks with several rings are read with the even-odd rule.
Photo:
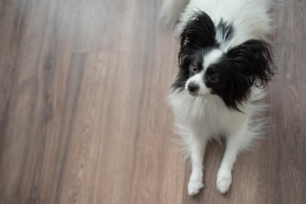
[[205, 12], [196, 12], [181, 31], [178, 66], [187, 68], [195, 51], [216, 45], [215, 36], [216, 29], [211, 18]]

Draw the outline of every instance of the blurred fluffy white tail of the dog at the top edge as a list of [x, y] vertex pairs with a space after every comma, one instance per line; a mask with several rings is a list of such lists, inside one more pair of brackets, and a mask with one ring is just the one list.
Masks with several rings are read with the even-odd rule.
[[187, 5], [189, 0], [164, 0], [159, 13], [159, 25], [170, 30], [175, 25], [182, 9]]

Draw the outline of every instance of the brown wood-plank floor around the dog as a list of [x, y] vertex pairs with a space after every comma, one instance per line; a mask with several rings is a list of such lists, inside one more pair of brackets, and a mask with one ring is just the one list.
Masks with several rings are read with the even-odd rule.
[[216, 189], [187, 194], [167, 94], [175, 31], [162, 0], [0, 0], [0, 204], [305, 204], [306, 1], [274, 10], [272, 127]]

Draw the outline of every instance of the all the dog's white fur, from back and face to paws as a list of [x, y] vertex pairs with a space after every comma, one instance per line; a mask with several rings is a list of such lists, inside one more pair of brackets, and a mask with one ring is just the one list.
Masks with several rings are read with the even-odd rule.
[[[235, 31], [229, 42], [223, 42], [217, 32], [217, 40], [220, 42], [220, 50], [212, 52], [204, 62], [208, 64], [218, 59], [219, 53], [226, 52], [229, 47], [238, 45], [249, 39], [267, 40], [267, 34], [271, 32], [270, 9], [272, 0], [190, 0], [180, 16], [178, 29], [190, 19], [194, 11], [206, 12], [214, 24], [221, 20], [234, 23]], [[172, 27], [176, 21], [180, 9], [186, 5], [186, 0], [166, 0], [160, 14], [166, 27]], [[174, 6], [174, 7], [173, 7]], [[202, 73], [198, 74], [199, 76]], [[186, 83], [200, 82], [195, 75]], [[201, 86], [202, 87], [202, 86]], [[222, 99], [217, 95], [207, 94], [207, 88], [202, 87], [199, 96], [191, 96], [185, 89], [183, 91], [172, 90], [169, 95], [169, 103], [175, 114], [175, 124], [178, 134], [183, 138], [187, 156], [191, 158], [192, 173], [188, 184], [188, 194], [196, 195], [204, 186], [203, 184], [203, 158], [206, 144], [221, 137], [226, 139], [226, 149], [218, 174], [217, 188], [220, 193], [228, 191], [232, 183], [232, 169], [238, 154], [247, 149], [252, 141], [261, 135], [262, 125], [266, 120], [255, 119], [264, 105], [255, 104], [254, 101], [262, 99], [265, 94], [259, 89], [253, 88], [250, 99], [237, 110], [226, 107]]]

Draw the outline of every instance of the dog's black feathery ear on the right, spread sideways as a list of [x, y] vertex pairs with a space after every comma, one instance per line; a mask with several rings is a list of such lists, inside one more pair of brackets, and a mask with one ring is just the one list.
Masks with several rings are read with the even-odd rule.
[[[226, 53], [226, 61], [230, 64], [229, 90], [236, 103], [245, 101], [251, 86], [262, 88], [267, 85], [276, 73], [277, 67], [271, 51], [271, 45], [261, 40], [249, 40], [230, 48]], [[236, 104], [233, 106], [237, 109]]]

